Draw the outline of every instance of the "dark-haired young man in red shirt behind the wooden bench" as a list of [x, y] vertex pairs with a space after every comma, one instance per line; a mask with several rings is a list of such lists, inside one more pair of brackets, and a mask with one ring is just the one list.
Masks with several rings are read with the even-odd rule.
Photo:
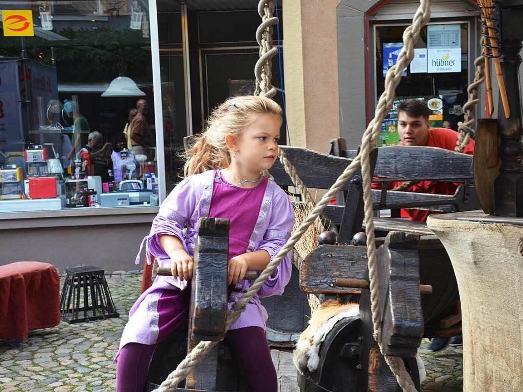
[[[427, 146], [439, 147], [454, 151], [458, 141], [458, 132], [447, 128], [430, 129], [428, 119], [429, 109], [424, 101], [411, 99], [403, 101], [397, 107], [397, 131], [400, 134], [401, 142], [399, 146]], [[464, 154], [474, 153], [474, 141], [465, 146]], [[389, 182], [388, 189], [394, 189], [403, 182]], [[456, 192], [459, 183], [419, 181], [415, 185], [406, 189], [406, 192], [449, 194]], [[380, 183], [373, 183], [374, 189], [380, 189]], [[432, 211], [424, 210], [404, 210], [411, 221], [425, 222]]]

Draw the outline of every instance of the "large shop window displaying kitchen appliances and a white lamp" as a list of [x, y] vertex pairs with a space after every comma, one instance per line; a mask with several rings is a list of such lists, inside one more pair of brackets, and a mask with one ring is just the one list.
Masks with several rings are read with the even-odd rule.
[[147, 1], [11, 4], [34, 35], [0, 40], [0, 212], [157, 205]]

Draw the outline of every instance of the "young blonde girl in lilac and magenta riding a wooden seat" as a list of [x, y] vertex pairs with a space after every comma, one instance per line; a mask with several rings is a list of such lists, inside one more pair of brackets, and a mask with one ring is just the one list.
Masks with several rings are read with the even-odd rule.
[[[291, 203], [260, 174], [278, 156], [281, 121], [277, 103], [254, 96], [231, 98], [211, 114], [187, 154], [186, 178], [162, 203], [144, 238], [147, 259], [152, 253], [173, 277], [157, 276], [131, 308], [117, 354], [117, 392], [143, 391], [156, 345], [187, 318], [199, 217], [230, 219], [229, 284], [239, 282], [242, 292], [251, 283], [243, 280], [245, 272], [263, 270], [286, 243], [294, 223]], [[253, 392], [277, 391], [259, 297], [281, 295], [290, 273], [287, 255], [227, 332]]]

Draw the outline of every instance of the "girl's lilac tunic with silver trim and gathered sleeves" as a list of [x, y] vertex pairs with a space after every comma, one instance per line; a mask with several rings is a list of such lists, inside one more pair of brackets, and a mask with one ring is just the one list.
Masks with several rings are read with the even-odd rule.
[[[214, 170], [189, 176], [181, 181], [168, 195], [160, 206], [158, 215], [154, 218], [150, 234], [144, 238], [140, 247], [141, 253], [145, 245], [145, 254], [148, 263], [151, 262], [150, 254], [152, 253], [157, 258], [160, 267], [170, 268], [170, 259], [158, 241], [158, 235], [161, 234], [178, 237], [184, 249], [189, 253], [189, 256], [193, 256], [194, 243], [198, 234], [198, 219], [201, 216], [210, 216], [214, 187], [226, 187], [221, 183], [215, 182], [214, 177]], [[263, 192], [263, 197], [261, 197], [258, 209], [258, 207], [252, 203], [255, 199], [252, 195], [254, 195], [257, 190], [263, 189], [263, 187], [265, 187], [265, 192]], [[227, 188], [240, 190], [240, 193], [244, 190], [244, 188]], [[224, 189], [223, 191], [227, 192], [230, 190]], [[254, 225], [251, 224], [253, 228], [251, 232], [248, 233], [248, 240], [247, 236], [245, 236], [244, 240], [240, 238], [244, 237], [244, 235], [238, 237], [238, 244], [235, 244], [233, 241], [230, 250], [244, 253], [265, 249], [272, 259], [290, 237], [294, 223], [292, 205], [285, 192], [272, 180], [264, 180], [264, 182], [260, 183], [257, 187], [246, 189], [245, 193], [249, 197], [243, 197], [243, 204], [234, 205], [235, 210], [239, 213], [237, 216], [239, 217], [241, 213], [248, 215], [248, 212], [252, 212], [252, 210], [257, 211], [258, 216], [255, 219]], [[213, 212], [223, 213], [224, 210], [221, 206], [225, 206], [225, 204], [219, 203], [212, 205]], [[231, 206], [229, 205], [228, 208], [230, 209]], [[231, 217], [233, 216], [231, 215]], [[235, 217], [233, 217], [233, 219], [235, 219]], [[249, 220], [245, 220], [243, 224], [247, 225], [247, 221]], [[184, 229], [184, 225], [186, 224], [187, 228]], [[234, 222], [232, 222], [231, 226], [233, 226], [233, 224]], [[242, 250], [242, 248], [245, 250]], [[140, 261], [140, 253], [137, 257], [137, 264]], [[265, 328], [267, 312], [260, 304], [259, 297], [276, 294], [281, 295], [283, 288], [289, 282], [290, 273], [291, 262], [289, 255], [287, 255], [258, 291], [258, 294], [249, 301], [240, 319], [235, 322], [231, 329], [249, 326]], [[242, 281], [242, 284], [242, 291], [246, 291], [251, 282]], [[123, 330], [120, 349], [129, 342], [143, 344], [154, 344], [157, 342], [160, 331], [158, 326], [158, 299], [162, 296], [164, 290], [173, 290], [175, 287], [178, 287], [180, 290], [185, 290], [187, 282], [180, 281], [178, 278], [173, 278], [172, 276], [156, 276], [152, 286], [138, 298], [129, 312], [129, 322]], [[236, 301], [241, 295], [242, 293], [238, 294]], [[232, 304], [229, 304], [229, 308], [231, 308], [231, 306]]]

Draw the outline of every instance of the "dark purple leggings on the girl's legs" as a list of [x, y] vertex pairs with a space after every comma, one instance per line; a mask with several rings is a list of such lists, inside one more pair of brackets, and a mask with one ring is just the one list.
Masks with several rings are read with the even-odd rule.
[[[238, 363], [247, 373], [252, 392], [277, 392], [278, 379], [265, 331], [246, 327], [227, 332]], [[143, 392], [156, 344], [127, 343], [120, 350], [116, 372], [117, 392]], [[174, 369], [173, 369], [174, 370]]]

